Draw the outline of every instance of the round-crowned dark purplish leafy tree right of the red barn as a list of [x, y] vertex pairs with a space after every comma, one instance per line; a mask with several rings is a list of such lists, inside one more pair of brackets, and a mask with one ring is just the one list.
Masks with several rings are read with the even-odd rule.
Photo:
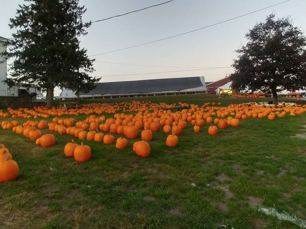
[[232, 65], [233, 89], [272, 93], [277, 105], [277, 93], [306, 88], [306, 38], [290, 17], [271, 14], [245, 37]]

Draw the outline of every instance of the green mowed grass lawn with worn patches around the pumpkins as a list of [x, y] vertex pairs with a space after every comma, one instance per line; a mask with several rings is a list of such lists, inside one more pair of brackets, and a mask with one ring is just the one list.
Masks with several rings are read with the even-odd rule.
[[[207, 95], [137, 98], [198, 105], [214, 99]], [[216, 98], [215, 102], [228, 106], [263, 100], [271, 99]], [[86, 117], [73, 116], [76, 121]], [[153, 133], [148, 158], [132, 151], [140, 134], [129, 140], [125, 150], [85, 140], [92, 157], [84, 163], [64, 155], [71, 135], [52, 132], [55, 146], [43, 148], [0, 129], [0, 142], [20, 169], [17, 180], [0, 184], [0, 228], [300, 228], [258, 212], [258, 206], [306, 219], [306, 140], [292, 137], [306, 132], [304, 125], [305, 114], [287, 114], [274, 121], [247, 118], [239, 127], [219, 129], [210, 136], [209, 124], [194, 133], [188, 122], [174, 148], [166, 147], [162, 128]]]

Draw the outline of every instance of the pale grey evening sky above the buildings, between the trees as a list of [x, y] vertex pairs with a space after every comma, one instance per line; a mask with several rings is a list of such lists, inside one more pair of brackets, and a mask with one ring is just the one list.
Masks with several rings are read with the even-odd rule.
[[[80, 37], [81, 46], [88, 55], [104, 53], [128, 46], [138, 45], [165, 37], [215, 24], [249, 13], [283, 0], [175, 0], [165, 5], [149, 8], [92, 24], [88, 35]], [[0, 36], [11, 37], [9, 18], [14, 17], [18, 4], [23, 0], [2, 0], [0, 13]], [[80, 0], [87, 12], [83, 21], [95, 21], [110, 16], [141, 9], [166, 0]], [[244, 35], [270, 13], [277, 17], [291, 15], [296, 26], [306, 29], [306, 0], [291, 0], [223, 24], [209, 27], [187, 35], [164, 41], [95, 56], [96, 60], [139, 65], [226, 67], [236, 58], [234, 52], [246, 42]], [[122, 75], [146, 72], [177, 71], [191, 68], [143, 67], [95, 62], [94, 76]], [[231, 68], [174, 73], [103, 77], [100, 82], [204, 76], [214, 81], [232, 72]], [[56, 89], [54, 96], [61, 90]]]

